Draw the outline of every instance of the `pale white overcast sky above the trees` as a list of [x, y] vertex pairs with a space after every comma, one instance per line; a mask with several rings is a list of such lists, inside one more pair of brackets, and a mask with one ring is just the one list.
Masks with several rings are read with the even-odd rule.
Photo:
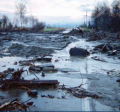
[[[19, 0], [0, 0], [0, 16], [7, 14], [14, 17], [15, 3]], [[99, 1], [106, 0], [26, 0], [27, 13], [46, 23], [78, 23]], [[111, 3], [112, 0], [107, 0]]]

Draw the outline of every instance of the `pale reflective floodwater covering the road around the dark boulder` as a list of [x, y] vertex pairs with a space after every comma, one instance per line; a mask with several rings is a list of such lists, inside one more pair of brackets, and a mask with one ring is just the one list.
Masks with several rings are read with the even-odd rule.
[[[34, 35], [34, 38], [41, 39], [44, 36], [36, 36]], [[57, 38], [59, 35], [52, 35], [49, 36], [50, 38], [54, 37]], [[32, 38], [32, 37], [31, 37]], [[92, 50], [95, 45], [98, 45], [99, 42], [86, 42], [85, 39], [82, 39], [81, 37], [71, 37], [73, 40], [72, 43], [70, 43], [66, 48], [62, 50], [56, 50], [52, 53], [52, 64], [54, 64], [55, 68], [58, 69], [55, 73], [45, 73], [46, 76], [42, 77], [41, 73], [36, 73], [37, 77], [39, 79], [43, 80], [58, 80], [60, 82], [59, 85], [65, 85], [65, 87], [76, 87], [80, 84], [84, 84], [82, 88], [87, 89], [90, 87], [90, 80], [98, 80], [98, 76], [94, 76], [95, 74], [103, 74], [103, 77], [107, 76], [107, 71], [113, 70], [119, 72], [120, 68], [120, 61], [117, 60], [114, 57], [108, 57], [105, 54], [95, 53], [91, 54], [88, 57], [82, 58], [82, 57], [71, 57], [69, 55], [69, 50], [72, 47], [80, 47], [85, 48], [87, 50]], [[27, 40], [27, 39], [26, 39]], [[12, 45], [15, 43], [22, 44], [23, 46], [36, 46], [38, 47], [38, 43], [35, 43], [37, 40], [33, 39], [32, 42], [23, 41], [22, 43], [19, 41], [13, 41], [11, 43], [8, 43], [7, 45]], [[53, 40], [54, 42], [54, 40]], [[8, 47], [6, 45], [6, 48]], [[48, 45], [48, 46], [47, 46]], [[47, 44], [46, 47], [44, 44], [40, 44], [39, 46], [49, 48], [50, 43]], [[52, 45], [51, 48], [54, 48], [56, 45]], [[59, 45], [60, 46], [60, 45]], [[58, 47], [59, 47], [58, 46]], [[58, 49], [58, 48], [57, 48]], [[24, 52], [24, 51], [23, 51]], [[107, 62], [101, 62], [93, 60], [91, 57], [93, 56], [100, 56], [103, 59], [105, 59]], [[27, 58], [28, 59], [31, 59]], [[0, 72], [6, 70], [7, 68], [14, 68], [18, 69], [21, 68], [19, 64], [14, 65], [14, 62], [19, 62], [21, 60], [26, 60], [26, 58], [23, 56], [7, 56], [7, 57], [1, 57], [0, 58]], [[57, 60], [57, 61], [56, 61]], [[44, 62], [35, 62], [35, 65], [41, 65]], [[25, 70], [28, 70], [29, 66], [24, 66]], [[93, 74], [93, 75], [91, 75]], [[33, 74], [29, 73], [23, 73], [23, 77], [26, 80], [36, 78]], [[101, 76], [102, 77], [102, 76]], [[113, 108], [110, 106], [106, 106], [104, 104], [101, 104], [100, 102], [97, 102], [96, 100], [92, 100], [92, 98], [76, 98], [71, 93], [69, 93], [66, 90], [61, 89], [48, 89], [48, 88], [37, 88], [38, 96], [36, 98], [32, 98], [31, 101], [34, 102], [35, 107], [31, 108], [32, 110], [37, 111], [90, 111], [90, 110], [99, 110], [99, 106], [101, 105], [101, 110], [108, 110], [112, 111]], [[53, 95], [54, 99], [50, 98], [42, 98], [41, 95]], [[26, 91], [24, 90], [9, 90], [9, 91], [0, 91], [0, 96], [5, 96], [9, 99], [15, 99], [18, 98], [22, 102], [28, 100], [30, 97], [27, 95]]]

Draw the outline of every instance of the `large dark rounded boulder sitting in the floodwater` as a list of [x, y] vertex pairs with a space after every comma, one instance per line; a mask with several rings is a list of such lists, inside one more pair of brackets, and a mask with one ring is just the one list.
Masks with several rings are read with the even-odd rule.
[[90, 54], [87, 50], [76, 47], [71, 48], [69, 53], [71, 56], [82, 56], [82, 57], [86, 57]]

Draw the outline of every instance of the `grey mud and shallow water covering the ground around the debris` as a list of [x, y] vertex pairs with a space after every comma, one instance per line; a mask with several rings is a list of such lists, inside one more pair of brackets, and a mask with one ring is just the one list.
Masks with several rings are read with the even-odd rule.
[[[98, 95], [100, 98], [77, 98], [67, 90], [59, 88], [35, 88], [38, 96], [32, 98], [34, 105], [29, 109], [45, 111], [119, 111], [120, 108], [120, 85], [116, 81], [120, 77], [119, 53], [115, 56], [108, 56], [108, 53], [94, 51], [95, 46], [101, 43], [117, 44], [103, 38], [97, 41], [86, 41], [90, 35], [71, 36], [59, 34], [9, 34], [0, 36], [0, 72], [8, 68], [24, 68], [28, 70], [30, 65], [21, 66], [19, 61], [32, 60], [39, 56], [51, 56], [52, 63], [57, 71], [44, 71], [36, 73], [37, 77], [43, 80], [58, 80], [59, 86], [66, 88], [76, 87], [80, 84], [82, 88]], [[71, 57], [69, 50], [72, 47], [80, 47], [90, 51], [88, 57]], [[92, 57], [100, 57], [94, 60]], [[17, 63], [16, 63], [17, 62]], [[35, 61], [34, 65], [42, 65], [46, 62]], [[36, 78], [33, 73], [23, 73], [24, 79]], [[52, 95], [41, 97], [41, 95]], [[25, 90], [8, 89], [0, 91], [0, 98], [4, 97], [1, 103], [18, 98], [22, 102], [31, 98]]]

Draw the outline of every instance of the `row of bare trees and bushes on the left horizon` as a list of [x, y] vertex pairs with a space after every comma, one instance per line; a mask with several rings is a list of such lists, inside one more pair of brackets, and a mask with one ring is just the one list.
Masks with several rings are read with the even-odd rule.
[[0, 29], [2, 30], [29, 30], [34, 32], [39, 32], [45, 28], [44, 22], [39, 22], [39, 20], [34, 16], [26, 16], [27, 8], [24, 1], [19, 1], [15, 5], [15, 17], [14, 20], [8, 18], [8, 16], [2, 16], [2, 22], [0, 22]]

